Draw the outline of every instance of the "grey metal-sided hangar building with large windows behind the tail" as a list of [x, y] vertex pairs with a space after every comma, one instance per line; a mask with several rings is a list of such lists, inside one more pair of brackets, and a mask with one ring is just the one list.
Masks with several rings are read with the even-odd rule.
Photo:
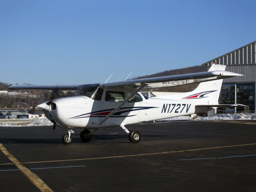
[[[226, 70], [243, 74], [223, 80], [219, 103], [244, 104], [247, 108], [220, 109], [222, 112], [256, 113], [256, 41], [214, 58], [202, 65], [226, 65]], [[220, 111], [221, 112], [221, 111]]]

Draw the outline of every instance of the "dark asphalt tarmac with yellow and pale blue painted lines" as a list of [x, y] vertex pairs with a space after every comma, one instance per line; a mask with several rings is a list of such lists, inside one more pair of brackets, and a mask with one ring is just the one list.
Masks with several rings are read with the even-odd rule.
[[0, 127], [0, 191], [256, 191], [256, 122], [176, 121], [95, 132]]

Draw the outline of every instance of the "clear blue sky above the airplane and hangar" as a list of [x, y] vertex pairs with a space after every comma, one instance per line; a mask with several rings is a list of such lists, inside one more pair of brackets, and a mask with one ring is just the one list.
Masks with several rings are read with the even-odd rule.
[[87, 84], [200, 65], [256, 40], [255, 0], [0, 0], [0, 82]]

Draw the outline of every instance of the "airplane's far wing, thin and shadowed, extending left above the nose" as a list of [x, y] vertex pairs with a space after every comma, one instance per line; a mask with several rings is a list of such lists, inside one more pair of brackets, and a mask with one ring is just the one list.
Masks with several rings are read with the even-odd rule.
[[8, 89], [20, 90], [20, 89], [35, 89], [35, 90], [76, 90], [80, 86], [77, 85], [12, 85]]

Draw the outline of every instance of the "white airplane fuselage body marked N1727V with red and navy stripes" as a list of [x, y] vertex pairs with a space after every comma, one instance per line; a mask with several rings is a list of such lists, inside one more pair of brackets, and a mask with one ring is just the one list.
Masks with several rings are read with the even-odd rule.
[[103, 124], [99, 123], [120, 102], [92, 100], [86, 96], [58, 98], [52, 100], [56, 108], [45, 113], [48, 119], [64, 128], [106, 128], [194, 114], [198, 104], [192, 100], [142, 98], [141, 102], [127, 102]]

